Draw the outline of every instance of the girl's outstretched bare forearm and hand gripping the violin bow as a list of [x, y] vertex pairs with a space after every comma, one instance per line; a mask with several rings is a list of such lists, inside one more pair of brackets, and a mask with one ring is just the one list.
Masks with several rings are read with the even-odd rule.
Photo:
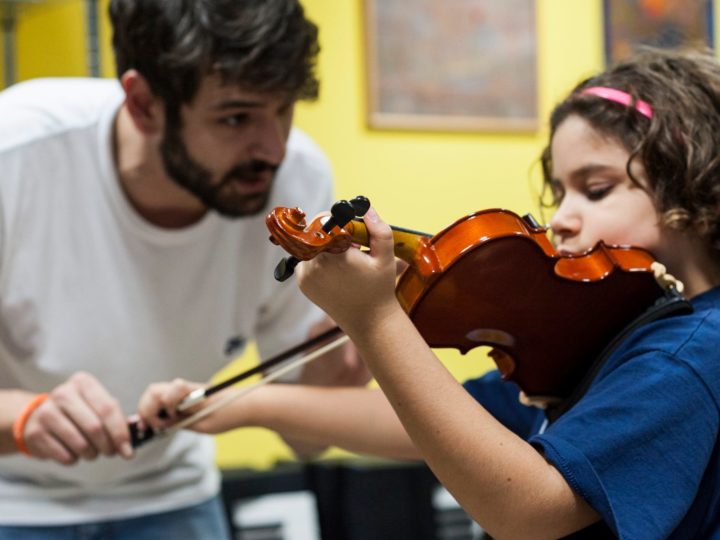
[[[138, 414], [155, 429], [169, 427], [186, 415], [168, 413], [169, 418], [163, 420], [157, 412], [160, 409], [175, 411], [184, 397], [198, 386], [179, 379], [151, 385], [140, 399]], [[232, 391], [218, 393], [198, 408], [224, 399], [226, 392]], [[251, 426], [271, 429], [285, 438], [312, 446], [333, 445], [361, 454], [420, 459], [379, 389], [268, 384], [218, 409], [190, 429], [222, 433]]]

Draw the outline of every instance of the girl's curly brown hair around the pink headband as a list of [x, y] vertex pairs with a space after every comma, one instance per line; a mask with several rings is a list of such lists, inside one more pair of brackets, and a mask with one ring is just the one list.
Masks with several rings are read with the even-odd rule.
[[[652, 118], [634, 106], [581, 94], [592, 86], [648, 102]], [[697, 235], [720, 258], [720, 63], [712, 53], [646, 49], [582, 81], [553, 110], [550, 141], [570, 115], [623, 145], [630, 154], [626, 170], [636, 183], [630, 164], [639, 159], [662, 223]], [[552, 188], [550, 144], [541, 162], [546, 200]]]

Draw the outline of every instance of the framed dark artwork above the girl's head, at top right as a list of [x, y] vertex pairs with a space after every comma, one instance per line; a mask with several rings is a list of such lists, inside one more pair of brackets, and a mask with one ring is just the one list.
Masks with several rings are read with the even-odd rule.
[[609, 64], [641, 46], [712, 48], [712, 0], [604, 0]]

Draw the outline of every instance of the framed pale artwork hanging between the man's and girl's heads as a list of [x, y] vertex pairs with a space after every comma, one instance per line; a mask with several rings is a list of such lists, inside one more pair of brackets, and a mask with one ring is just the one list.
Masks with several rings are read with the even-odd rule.
[[534, 0], [364, 0], [368, 123], [537, 128]]

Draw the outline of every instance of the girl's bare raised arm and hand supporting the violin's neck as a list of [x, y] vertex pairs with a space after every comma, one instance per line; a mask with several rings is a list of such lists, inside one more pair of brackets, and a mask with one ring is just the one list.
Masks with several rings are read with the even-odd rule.
[[372, 209], [365, 221], [369, 254], [323, 254], [299, 265], [299, 283], [351, 337], [438, 479], [496, 538], [559, 538], [597, 521], [557, 469], [433, 354], [395, 299], [389, 228]]

